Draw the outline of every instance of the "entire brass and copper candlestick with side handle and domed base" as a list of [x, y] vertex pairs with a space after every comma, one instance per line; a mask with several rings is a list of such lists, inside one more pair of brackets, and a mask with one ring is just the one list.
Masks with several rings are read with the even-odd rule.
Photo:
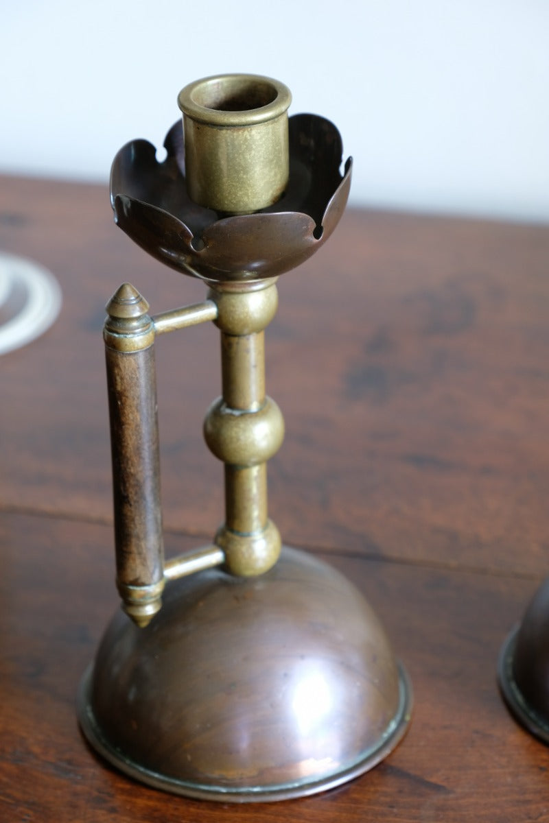
[[[266, 77], [187, 86], [168, 156], [135, 141], [114, 160], [115, 221], [208, 286], [151, 317], [133, 286], [107, 307], [114, 477], [114, 616], [81, 683], [86, 737], [145, 783], [222, 801], [280, 800], [370, 769], [407, 728], [411, 689], [375, 615], [342, 575], [281, 547], [266, 463], [283, 421], [265, 393], [264, 334], [277, 277], [319, 248], [347, 202], [351, 160], [332, 123], [288, 121]], [[204, 435], [225, 464], [226, 519], [211, 546], [164, 560], [156, 335], [212, 320], [222, 396]], [[125, 613], [124, 613], [125, 612]]]

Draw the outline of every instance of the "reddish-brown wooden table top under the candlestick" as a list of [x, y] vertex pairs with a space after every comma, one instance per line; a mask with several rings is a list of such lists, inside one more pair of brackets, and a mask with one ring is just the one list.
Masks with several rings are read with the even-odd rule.
[[[0, 821], [549, 821], [549, 750], [500, 700], [500, 644], [549, 571], [549, 227], [349, 211], [281, 277], [268, 392], [286, 418], [270, 512], [365, 593], [407, 666], [412, 727], [317, 797], [232, 806], [145, 788], [77, 728], [118, 607], [101, 326], [132, 281], [202, 300], [112, 222], [104, 187], [0, 178], [0, 249], [48, 267], [63, 310], [0, 358]], [[202, 443], [210, 324], [157, 346], [170, 552], [221, 522]]]

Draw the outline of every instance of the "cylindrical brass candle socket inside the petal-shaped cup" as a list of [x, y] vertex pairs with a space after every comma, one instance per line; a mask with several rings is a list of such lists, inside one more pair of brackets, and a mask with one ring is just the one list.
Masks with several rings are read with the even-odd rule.
[[226, 214], [271, 206], [288, 183], [290, 90], [270, 77], [207, 77], [179, 93], [190, 198]]

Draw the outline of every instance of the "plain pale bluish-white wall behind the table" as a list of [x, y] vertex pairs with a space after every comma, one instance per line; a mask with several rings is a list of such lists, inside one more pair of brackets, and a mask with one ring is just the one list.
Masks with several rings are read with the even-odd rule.
[[549, 221], [548, 0], [2, 0], [0, 171], [106, 180], [189, 81], [254, 72], [333, 119], [352, 200]]

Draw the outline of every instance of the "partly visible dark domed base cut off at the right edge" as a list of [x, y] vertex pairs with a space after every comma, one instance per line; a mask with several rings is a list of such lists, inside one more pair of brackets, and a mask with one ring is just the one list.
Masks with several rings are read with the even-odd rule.
[[505, 640], [498, 677], [514, 717], [549, 744], [549, 579], [537, 590], [522, 624]]

